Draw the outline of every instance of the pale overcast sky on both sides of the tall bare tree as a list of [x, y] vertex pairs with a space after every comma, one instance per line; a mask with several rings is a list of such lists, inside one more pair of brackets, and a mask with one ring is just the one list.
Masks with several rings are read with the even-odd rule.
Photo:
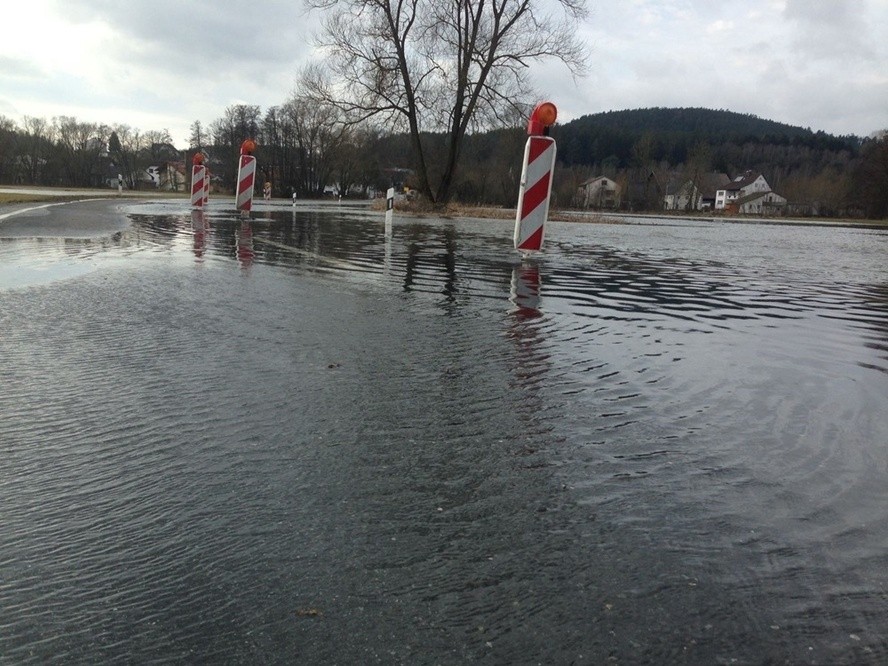
[[[168, 129], [283, 103], [312, 55], [299, 0], [23, 0], [3, 9], [0, 115]], [[559, 120], [707, 107], [866, 136], [888, 129], [888, 0], [589, 0], [590, 73], [534, 66]]]

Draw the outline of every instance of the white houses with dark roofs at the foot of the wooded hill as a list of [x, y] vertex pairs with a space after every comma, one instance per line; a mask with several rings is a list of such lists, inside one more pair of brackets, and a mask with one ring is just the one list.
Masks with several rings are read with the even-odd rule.
[[[705, 173], [676, 180], [660, 189], [664, 210], [780, 215], [786, 207], [786, 198], [774, 192], [762, 174], [753, 171], [746, 171], [733, 180], [724, 173]], [[583, 208], [616, 209], [621, 204], [622, 190], [612, 178], [596, 176], [580, 185], [577, 203]]]

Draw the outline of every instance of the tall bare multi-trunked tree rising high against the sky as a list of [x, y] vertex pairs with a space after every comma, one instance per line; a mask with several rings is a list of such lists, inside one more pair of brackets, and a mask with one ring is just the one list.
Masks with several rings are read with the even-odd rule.
[[[434, 203], [451, 196], [466, 133], [503, 124], [510, 110], [533, 101], [531, 61], [556, 58], [574, 74], [585, 69], [576, 31], [585, 0], [305, 2], [331, 10], [322, 33], [325, 68], [315, 70], [311, 94], [352, 122], [406, 125], [419, 187]], [[428, 133], [442, 132], [436, 167]]]

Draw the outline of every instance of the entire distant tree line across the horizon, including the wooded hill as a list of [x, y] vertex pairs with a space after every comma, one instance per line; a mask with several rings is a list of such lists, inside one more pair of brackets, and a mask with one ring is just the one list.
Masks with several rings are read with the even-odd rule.
[[[554, 205], [569, 207], [580, 185], [608, 176], [625, 191], [621, 205], [659, 210], [670, 185], [710, 171], [730, 177], [761, 172], [791, 202], [816, 204], [820, 215], [888, 217], [888, 138], [836, 137], [751, 115], [707, 109], [640, 109], [584, 116], [553, 128], [558, 165]], [[107, 186], [121, 174], [128, 188], [150, 186], [149, 166], [190, 166], [194, 152], [209, 156], [214, 184], [234, 189], [241, 142], [259, 147], [258, 178], [276, 196], [366, 196], [392, 184], [419, 189], [415, 141], [405, 133], [345, 122], [341, 110], [294, 94], [264, 112], [234, 105], [204, 125], [191, 126], [186, 150], [169, 132], [99, 125], [71, 117], [0, 117], [0, 183]], [[446, 133], [423, 132], [426, 169], [447, 155]], [[514, 206], [526, 136], [523, 128], [468, 133], [451, 197], [469, 204]], [[442, 157], [442, 159], [444, 159]], [[260, 185], [261, 186], [261, 185]]]

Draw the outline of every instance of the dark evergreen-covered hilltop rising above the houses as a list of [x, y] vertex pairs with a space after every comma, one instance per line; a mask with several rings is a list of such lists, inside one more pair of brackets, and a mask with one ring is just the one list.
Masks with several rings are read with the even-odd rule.
[[607, 161], [618, 168], [631, 166], [642, 155], [653, 161], [681, 164], [695, 146], [707, 146], [717, 158], [719, 147], [729, 145], [851, 153], [860, 145], [855, 136], [837, 137], [751, 114], [703, 108], [608, 111], [556, 126], [553, 135], [563, 163]]

